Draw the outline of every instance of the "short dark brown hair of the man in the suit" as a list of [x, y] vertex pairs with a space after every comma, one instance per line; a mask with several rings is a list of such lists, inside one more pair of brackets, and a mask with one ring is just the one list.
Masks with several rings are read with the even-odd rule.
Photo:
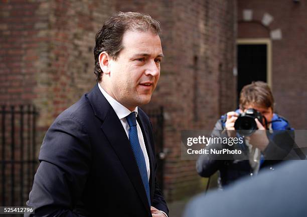
[[118, 12], [109, 17], [103, 24], [101, 30], [95, 37], [94, 48], [95, 69], [97, 82], [101, 81], [102, 70], [99, 66], [99, 54], [105, 51], [110, 57], [116, 60], [123, 49], [122, 37], [125, 32], [152, 32], [160, 34], [160, 23], [152, 19], [149, 15], [135, 12]]

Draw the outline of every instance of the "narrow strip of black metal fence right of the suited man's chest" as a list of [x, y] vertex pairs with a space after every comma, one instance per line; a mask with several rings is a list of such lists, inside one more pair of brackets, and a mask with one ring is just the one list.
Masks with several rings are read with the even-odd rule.
[[152, 124], [152, 131], [154, 133], [156, 159], [158, 164], [157, 180], [160, 185], [160, 189], [164, 189], [164, 161], [166, 154], [164, 153], [163, 145], [163, 127], [164, 127], [164, 111], [163, 107], [158, 109], [145, 110], [146, 114], [150, 118]]

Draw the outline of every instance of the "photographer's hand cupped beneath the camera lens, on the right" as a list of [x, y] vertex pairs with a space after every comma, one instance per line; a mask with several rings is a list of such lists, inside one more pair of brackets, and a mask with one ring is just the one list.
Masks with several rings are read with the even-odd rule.
[[252, 146], [259, 148], [261, 151], [263, 151], [267, 147], [269, 140], [267, 138], [265, 128], [262, 126], [262, 124], [258, 121], [257, 118], [255, 118], [255, 121], [258, 130], [256, 130], [251, 136], [246, 136], [245, 138], [249, 140], [249, 143]]

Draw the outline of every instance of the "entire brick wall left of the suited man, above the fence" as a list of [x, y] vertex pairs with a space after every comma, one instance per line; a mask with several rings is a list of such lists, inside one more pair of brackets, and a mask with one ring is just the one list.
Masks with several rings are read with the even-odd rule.
[[1, 10], [0, 104], [36, 104], [45, 131], [95, 84], [94, 37], [112, 7], [107, 1], [4, 1]]

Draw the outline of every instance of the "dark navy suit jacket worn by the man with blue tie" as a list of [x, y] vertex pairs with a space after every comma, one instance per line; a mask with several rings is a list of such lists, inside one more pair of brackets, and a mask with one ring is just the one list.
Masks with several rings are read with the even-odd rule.
[[[137, 121], [149, 157], [151, 205], [168, 214], [156, 182], [151, 123], [141, 109]], [[151, 216], [127, 135], [98, 85], [57, 117], [39, 160], [27, 202], [33, 216]]]

